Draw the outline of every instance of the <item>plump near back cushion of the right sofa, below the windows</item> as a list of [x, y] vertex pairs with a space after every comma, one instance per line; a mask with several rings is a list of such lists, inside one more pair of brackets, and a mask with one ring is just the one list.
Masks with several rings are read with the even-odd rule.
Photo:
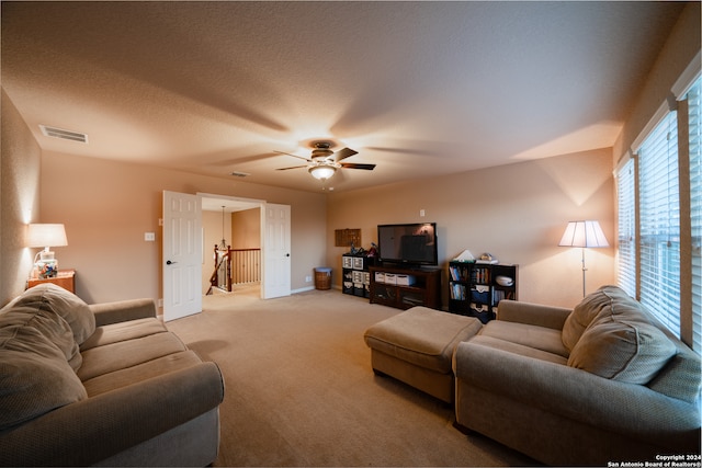
[[[615, 286], [591, 296], [599, 313], [573, 347], [568, 365], [629, 384], [648, 384], [676, 346], [648, 321], [643, 306]], [[607, 305], [605, 305], [607, 304]]]

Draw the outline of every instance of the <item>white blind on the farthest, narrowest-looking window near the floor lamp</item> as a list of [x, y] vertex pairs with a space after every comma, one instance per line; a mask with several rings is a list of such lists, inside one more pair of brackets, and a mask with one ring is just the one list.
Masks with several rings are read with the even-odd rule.
[[616, 283], [636, 297], [636, 198], [634, 159], [626, 161], [616, 173], [618, 272]]

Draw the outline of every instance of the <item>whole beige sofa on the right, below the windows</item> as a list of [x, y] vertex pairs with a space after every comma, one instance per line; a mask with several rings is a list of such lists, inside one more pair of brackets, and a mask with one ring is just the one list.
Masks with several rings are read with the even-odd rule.
[[501, 301], [453, 370], [456, 424], [541, 463], [699, 464], [700, 356], [615, 286], [573, 310]]

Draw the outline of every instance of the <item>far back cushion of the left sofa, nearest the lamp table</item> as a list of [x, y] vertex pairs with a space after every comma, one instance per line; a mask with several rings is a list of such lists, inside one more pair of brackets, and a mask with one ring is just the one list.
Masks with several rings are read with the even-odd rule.
[[27, 289], [15, 305], [43, 301], [48, 308], [66, 320], [80, 345], [95, 331], [95, 316], [88, 305], [75, 294], [52, 283], [43, 283]]

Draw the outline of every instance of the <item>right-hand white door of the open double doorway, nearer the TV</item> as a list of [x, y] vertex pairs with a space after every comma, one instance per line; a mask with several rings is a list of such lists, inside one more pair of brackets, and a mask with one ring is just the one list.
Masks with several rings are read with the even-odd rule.
[[264, 299], [290, 296], [290, 205], [268, 203], [262, 212], [264, 228], [261, 295]]

